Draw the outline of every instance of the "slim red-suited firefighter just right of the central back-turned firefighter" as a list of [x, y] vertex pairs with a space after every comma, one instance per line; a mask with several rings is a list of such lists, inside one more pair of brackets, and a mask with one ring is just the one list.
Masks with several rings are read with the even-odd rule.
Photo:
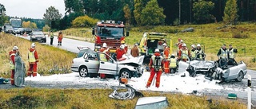
[[165, 73], [170, 73], [170, 68], [169, 68], [169, 64], [170, 64], [170, 61], [169, 61], [169, 54], [170, 54], [170, 51], [169, 51], [169, 48], [167, 47], [166, 43], [164, 43], [163, 45], [163, 57], [165, 58], [165, 61], [164, 61], [164, 72]]

